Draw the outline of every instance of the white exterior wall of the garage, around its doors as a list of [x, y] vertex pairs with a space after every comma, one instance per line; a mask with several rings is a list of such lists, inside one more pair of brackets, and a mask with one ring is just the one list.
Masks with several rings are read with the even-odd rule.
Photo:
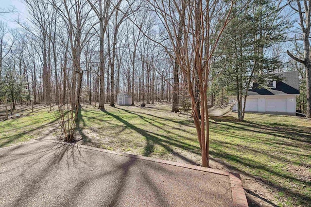
[[[295, 113], [296, 112], [296, 96], [297, 95], [263, 95], [263, 96], [247, 96], [247, 99], [257, 99], [258, 100], [258, 111], [259, 112], [266, 112], [266, 104], [267, 98], [286, 98], [287, 99], [287, 111], [288, 113]], [[229, 103], [236, 101], [235, 96], [229, 97]], [[242, 100], [242, 107], [243, 107], [244, 99]], [[247, 100], [246, 100], [247, 102]], [[233, 107], [233, 111], [237, 111], [238, 103], [236, 103]], [[276, 106], [277, 108], [277, 106]], [[246, 111], [246, 109], [245, 109]]]

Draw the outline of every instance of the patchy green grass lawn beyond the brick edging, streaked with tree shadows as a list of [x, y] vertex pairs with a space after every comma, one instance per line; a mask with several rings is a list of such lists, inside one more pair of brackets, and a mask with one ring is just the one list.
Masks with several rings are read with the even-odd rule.
[[[171, 113], [167, 106], [105, 107], [106, 111], [82, 107], [75, 135], [79, 143], [201, 163], [190, 117]], [[0, 122], [0, 147], [42, 137], [57, 123], [47, 109], [30, 115]], [[233, 118], [211, 121], [210, 157], [211, 167], [242, 175], [250, 205], [311, 204], [311, 120], [247, 113], [245, 122]]]

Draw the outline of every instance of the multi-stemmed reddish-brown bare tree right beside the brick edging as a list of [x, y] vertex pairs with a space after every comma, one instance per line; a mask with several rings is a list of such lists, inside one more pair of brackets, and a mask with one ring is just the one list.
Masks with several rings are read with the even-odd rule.
[[[168, 54], [173, 51], [172, 59], [175, 58], [183, 73], [183, 78], [188, 84], [188, 94], [192, 101], [192, 117], [200, 143], [202, 165], [209, 167], [209, 124], [207, 111], [207, 86], [210, 69], [210, 60], [217, 46], [218, 40], [229, 23], [229, 14], [235, 3], [234, 0], [223, 5], [224, 2], [217, 0], [195, 1], [149, 1], [152, 8], [156, 11], [159, 19], [168, 34], [172, 48], [167, 48], [162, 42], [158, 42], [167, 50]], [[222, 5], [221, 5], [222, 4]], [[183, 7], [186, 7], [185, 22], [182, 25], [183, 38], [181, 43], [176, 41], [180, 26], [180, 18], [183, 15]], [[215, 8], [215, 9], [213, 9]], [[210, 39], [212, 24], [217, 21], [213, 19], [214, 12], [225, 11], [220, 31], [213, 41]], [[198, 81], [195, 77], [198, 76]], [[200, 89], [200, 101], [195, 98], [194, 88]], [[200, 106], [200, 114], [198, 106]]]

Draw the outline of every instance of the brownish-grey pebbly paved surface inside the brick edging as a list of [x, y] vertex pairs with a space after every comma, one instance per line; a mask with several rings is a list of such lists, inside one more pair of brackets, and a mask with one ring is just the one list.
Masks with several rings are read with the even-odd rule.
[[229, 176], [94, 149], [0, 148], [0, 206], [233, 206]]

